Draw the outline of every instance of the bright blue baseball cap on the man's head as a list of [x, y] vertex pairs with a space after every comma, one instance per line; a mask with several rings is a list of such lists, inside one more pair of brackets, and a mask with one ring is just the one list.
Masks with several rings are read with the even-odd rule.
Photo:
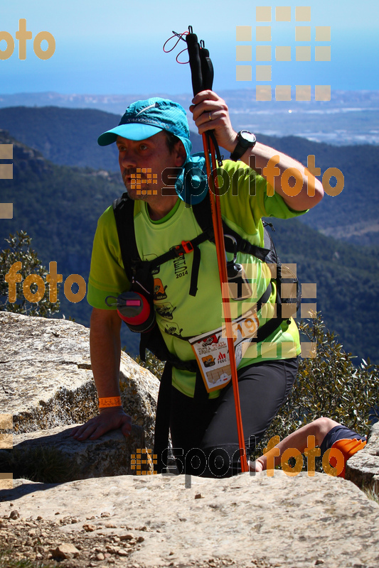
[[100, 146], [108, 146], [117, 140], [117, 136], [128, 140], [145, 140], [162, 130], [178, 136], [183, 142], [187, 157], [191, 154], [192, 144], [186, 111], [180, 104], [160, 97], [130, 104], [119, 125], [102, 133], [97, 138], [97, 143]]

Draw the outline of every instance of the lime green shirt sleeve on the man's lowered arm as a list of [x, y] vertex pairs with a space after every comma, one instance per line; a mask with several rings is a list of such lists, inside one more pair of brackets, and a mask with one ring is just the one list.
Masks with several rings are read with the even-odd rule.
[[117, 297], [129, 290], [129, 280], [124, 271], [117, 227], [112, 207], [102, 214], [97, 222], [92, 247], [87, 302], [100, 310], [115, 310], [105, 303], [107, 296]]

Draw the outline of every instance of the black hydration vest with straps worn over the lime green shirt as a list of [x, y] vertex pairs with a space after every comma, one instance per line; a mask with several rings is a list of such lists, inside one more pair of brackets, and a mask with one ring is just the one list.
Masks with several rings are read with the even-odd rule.
[[[189, 295], [196, 296], [196, 292], [198, 290], [198, 271], [200, 268], [201, 260], [201, 251], [199, 249], [199, 245], [207, 240], [214, 242], [209, 195], [207, 194], [207, 196], [201, 203], [193, 205], [192, 209], [193, 214], [196, 218], [196, 222], [201, 227], [202, 233], [191, 241], [181, 241], [181, 243], [178, 243], [176, 244], [176, 246], [172, 247], [170, 251], [161, 254], [151, 261], [142, 261], [137, 249], [137, 241], [134, 232], [134, 201], [131, 200], [127, 195], [127, 192], [125, 192], [122, 197], [119, 197], [113, 202], [113, 212], [114, 218], [116, 220], [122, 262], [124, 263], [124, 270], [129, 283], [131, 284], [130, 289], [134, 292], [138, 292], [144, 295], [144, 297], [146, 297], [146, 299], [151, 304], [152, 310], [154, 310], [154, 270], [161, 264], [166, 263], [183, 254], [193, 254]], [[279, 327], [282, 321], [289, 320], [288, 317], [282, 317], [282, 303], [294, 303], [296, 304], [297, 310], [301, 302], [299, 282], [294, 275], [287, 272], [287, 268], [286, 273], [284, 274], [282, 263], [277, 256], [274, 243], [271, 236], [269, 235], [269, 231], [267, 230], [268, 225], [271, 226], [272, 230], [274, 230], [271, 224], [264, 222], [265, 246], [260, 247], [251, 244], [246, 239], [242, 239], [242, 237], [237, 234], [236, 231], [230, 229], [230, 227], [223, 221], [225, 251], [227, 251], [228, 253], [233, 253], [237, 250], [241, 253], [255, 256], [260, 261], [276, 267], [276, 277], [272, 278], [272, 280], [276, 281], [277, 284], [276, 317], [272, 317], [271, 320], [262, 325], [262, 327], [258, 328], [257, 338], [254, 339], [254, 341], [257, 342], [262, 342], [264, 339], [267, 339], [267, 337], [269, 337], [269, 335]], [[291, 284], [293, 286], [294, 293], [292, 293], [292, 297], [281, 297], [280, 289], [282, 284]], [[272, 281], [270, 281], [267, 289], [265, 290], [265, 293], [257, 301], [257, 311], [260, 310], [263, 303], [268, 301], [271, 293]], [[294, 312], [296, 310], [294, 310]], [[154, 325], [153, 329], [150, 329], [148, 332], [141, 334], [139, 356], [141, 357], [142, 361], [145, 361], [146, 349], [149, 349], [149, 351], [156, 355], [158, 359], [161, 359], [161, 361], [169, 361], [177, 368], [186, 369], [188, 371], [197, 370], [196, 361], [181, 361], [169, 352], [169, 349], [167, 349], [166, 343], [164, 342], [157, 324]]]

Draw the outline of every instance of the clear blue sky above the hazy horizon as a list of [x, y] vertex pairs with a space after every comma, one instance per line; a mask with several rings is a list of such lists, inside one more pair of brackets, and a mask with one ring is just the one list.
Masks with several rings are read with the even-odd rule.
[[[171, 30], [181, 32], [189, 24], [210, 50], [215, 90], [255, 87], [257, 5], [272, 6], [271, 24], [260, 23], [272, 26], [272, 48], [291, 45], [294, 54], [295, 45], [306, 45], [295, 43], [295, 25], [312, 28], [313, 61], [296, 62], [294, 55], [291, 62], [272, 61], [272, 86], [331, 84], [331, 89], [379, 89], [378, 0], [260, 0], [257, 4], [251, 0], [144, 0], [139, 4], [131, 0], [65, 0], [54, 4], [51, 0], [16, 0], [5, 4], [4, 0], [0, 4], [0, 31], [15, 38], [18, 19], [26, 18], [33, 38], [40, 31], [53, 34], [56, 50], [49, 60], [40, 60], [33, 53], [33, 41], [28, 41], [26, 60], [19, 60], [15, 40], [13, 55], [0, 60], [0, 94], [190, 92], [188, 66], [178, 65], [173, 53], [162, 50]], [[275, 6], [291, 6], [292, 21], [275, 22]], [[295, 6], [311, 6], [310, 23], [295, 23]], [[235, 77], [236, 26], [252, 26], [251, 82], [237, 82]], [[314, 26], [331, 26], [330, 62], [314, 61]], [[2, 40], [0, 49], [5, 48]]]

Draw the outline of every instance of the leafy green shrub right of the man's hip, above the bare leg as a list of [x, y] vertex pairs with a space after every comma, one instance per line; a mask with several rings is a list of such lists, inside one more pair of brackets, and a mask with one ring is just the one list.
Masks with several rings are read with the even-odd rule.
[[316, 346], [316, 356], [299, 360], [299, 375], [287, 402], [272, 422], [271, 432], [281, 438], [296, 428], [326, 416], [365, 435], [378, 410], [378, 366], [353, 355], [325, 329], [321, 312], [299, 325], [301, 340]]

